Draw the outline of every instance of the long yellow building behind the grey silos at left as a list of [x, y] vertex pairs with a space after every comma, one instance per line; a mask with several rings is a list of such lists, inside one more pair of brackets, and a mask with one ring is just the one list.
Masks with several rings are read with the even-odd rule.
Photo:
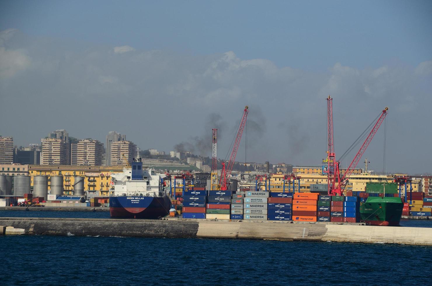
[[[33, 187], [36, 175], [57, 176], [64, 179], [64, 194], [73, 194], [74, 176], [84, 177], [84, 191], [94, 192], [97, 196], [108, 196], [111, 173], [123, 172], [124, 165], [116, 166], [70, 166], [70, 165], [29, 165], [28, 172]], [[48, 190], [50, 190], [48, 178]]]

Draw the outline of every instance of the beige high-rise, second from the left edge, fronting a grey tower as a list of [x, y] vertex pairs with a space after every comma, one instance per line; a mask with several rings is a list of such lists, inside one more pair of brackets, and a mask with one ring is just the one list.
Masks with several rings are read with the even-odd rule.
[[70, 143], [57, 138], [44, 138], [41, 142], [41, 165], [70, 165]]

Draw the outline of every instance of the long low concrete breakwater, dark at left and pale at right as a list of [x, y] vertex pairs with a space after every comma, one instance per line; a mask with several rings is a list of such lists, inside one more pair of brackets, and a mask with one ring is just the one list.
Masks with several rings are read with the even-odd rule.
[[[27, 235], [241, 238], [432, 246], [432, 228], [269, 221], [0, 218]], [[12, 229], [12, 228], [10, 228]], [[16, 231], [14, 233], [17, 233]]]

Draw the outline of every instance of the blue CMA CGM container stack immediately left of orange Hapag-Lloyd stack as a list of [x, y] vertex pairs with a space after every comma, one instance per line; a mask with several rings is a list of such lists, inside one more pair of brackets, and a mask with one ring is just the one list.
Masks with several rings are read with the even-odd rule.
[[294, 193], [271, 192], [267, 199], [268, 220], [292, 220], [292, 197]]

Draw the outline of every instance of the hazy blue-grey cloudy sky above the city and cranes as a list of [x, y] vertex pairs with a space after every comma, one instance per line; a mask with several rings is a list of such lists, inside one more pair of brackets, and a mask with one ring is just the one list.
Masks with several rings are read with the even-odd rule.
[[431, 1], [3, 0], [0, 135], [115, 130], [211, 156], [218, 128], [225, 159], [248, 105], [236, 161], [320, 165], [331, 95], [337, 158], [388, 107], [369, 169], [385, 138], [386, 172], [431, 173], [431, 15]]

